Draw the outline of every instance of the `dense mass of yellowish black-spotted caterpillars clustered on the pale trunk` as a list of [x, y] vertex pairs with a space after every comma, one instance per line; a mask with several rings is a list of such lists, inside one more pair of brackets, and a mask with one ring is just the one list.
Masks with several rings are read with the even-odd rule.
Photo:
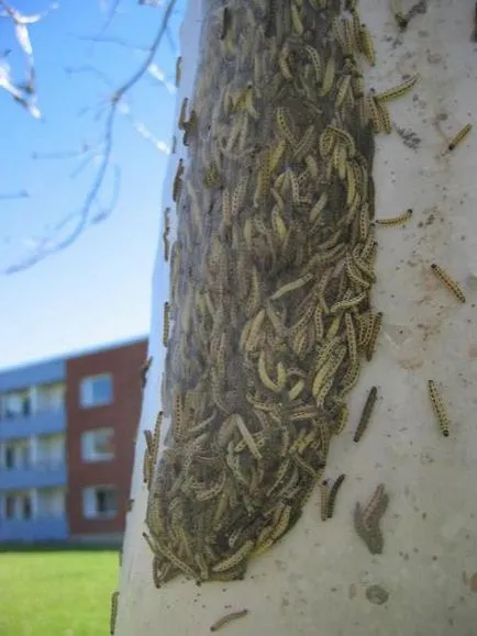
[[154, 436], [144, 455], [157, 587], [241, 579], [293, 527], [375, 352], [374, 137], [419, 76], [366, 92], [373, 40], [357, 1], [340, 4], [209, 3], [173, 182], [171, 427], [157, 467]]

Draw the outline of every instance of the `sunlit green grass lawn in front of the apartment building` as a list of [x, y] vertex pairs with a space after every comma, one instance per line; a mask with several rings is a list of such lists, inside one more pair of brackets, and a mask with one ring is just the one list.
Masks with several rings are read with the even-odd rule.
[[108, 635], [118, 574], [118, 550], [0, 554], [0, 635]]

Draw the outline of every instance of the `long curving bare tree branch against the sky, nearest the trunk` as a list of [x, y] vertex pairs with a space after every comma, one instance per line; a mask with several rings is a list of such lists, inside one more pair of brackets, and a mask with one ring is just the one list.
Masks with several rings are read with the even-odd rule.
[[[104, 124], [104, 141], [103, 141], [103, 148], [102, 148], [102, 157], [101, 157], [100, 165], [99, 165], [98, 171], [96, 174], [95, 180], [92, 182], [92, 186], [91, 186], [88, 194], [85, 198], [85, 201], [81, 205], [79, 213], [69, 214], [66, 219], [60, 221], [54, 227], [54, 232], [58, 233], [67, 223], [71, 222], [73, 220], [76, 220], [75, 227], [68, 233], [68, 235], [64, 239], [60, 239], [56, 243], [52, 243], [51, 237], [42, 238], [41, 241], [38, 241], [36, 243], [35, 252], [33, 254], [30, 254], [22, 261], [8, 267], [7, 269], [3, 270], [3, 274], [10, 275], [10, 274], [15, 274], [18, 271], [22, 271], [24, 269], [32, 267], [36, 263], [43, 260], [47, 256], [49, 256], [52, 254], [56, 254], [58, 252], [62, 252], [63, 249], [66, 249], [78, 238], [78, 236], [85, 231], [85, 228], [89, 224], [98, 223], [99, 221], [103, 220], [104, 217], [107, 217], [109, 215], [110, 211], [112, 210], [111, 204], [107, 208], [100, 207], [100, 210], [101, 210], [100, 214], [93, 219], [90, 217], [90, 212], [95, 205], [99, 205], [99, 192], [100, 192], [101, 186], [104, 182], [104, 179], [106, 179], [106, 176], [108, 172], [108, 168], [110, 166], [112, 147], [113, 147], [113, 129], [114, 129], [115, 116], [117, 116], [118, 112], [121, 112], [122, 110], [124, 111], [124, 108], [126, 110], [126, 112], [124, 114], [130, 114], [129, 113], [129, 107], [124, 105], [124, 96], [147, 72], [148, 68], [153, 64], [155, 54], [158, 49], [158, 46], [163, 40], [164, 34], [167, 31], [168, 22], [169, 22], [170, 15], [173, 13], [174, 7], [176, 5], [176, 1], [177, 0], [169, 0], [167, 7], [165, 9], [164, 16], [163, 16], [163, 20], [160, 22], [160, 26], [157, 30], [157, 33], [153, 40], [151, 48], [149, 48], [146, 57], [144, 58], [143, 63], [138, 66], [137, 70], [130, 77], [130, 79], [127, 81], [125, 81], [118, 90], [115, 90], [110, 96], [109, 112], [107, 114], [106, 124]], [[0, 2], [2, 2], [2, 0], [0, 0]], [[120, 107], [122, 107], [122, 108], [120, 108]], [[136, 130], [137, 130], [137, 126], [136, 126]], [[138, 130], [138, 132], [140, 132], [140, 134], [143, 134], [143, 136], [144, 136], [144, 131]], [[114, 171], [115, 196], [113, 196], [112, 199], [114, 200], [118, 198], [118, 191], [119, 191], [119, 174], [118, 174], [118, 167], [117, 166], [113, 166], [113, 171]]]

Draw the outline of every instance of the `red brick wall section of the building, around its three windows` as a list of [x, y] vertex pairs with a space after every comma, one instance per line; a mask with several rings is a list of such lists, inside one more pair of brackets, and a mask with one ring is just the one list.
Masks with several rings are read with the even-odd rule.
[[[99, 350], [66, 365], [66, 406], [68, 457], [67, 511], [71, 535], [118, 533], [124, 531], [134, 459], [134, 437], [141, 414], [140, 368], [147, 355], [146, 341], [118, 348]], [[113, 401], [107, 406], [81, 409], [79, 384], [82, 378], [111, 373]], [[114, 428], [114, 458], [110, 461], [84, 462], [81, 433], [92, 428]], [[119, 514], [114, 518], [90, 520], [82, 515], [82, 489], [114, 484], [118, 488]]]

